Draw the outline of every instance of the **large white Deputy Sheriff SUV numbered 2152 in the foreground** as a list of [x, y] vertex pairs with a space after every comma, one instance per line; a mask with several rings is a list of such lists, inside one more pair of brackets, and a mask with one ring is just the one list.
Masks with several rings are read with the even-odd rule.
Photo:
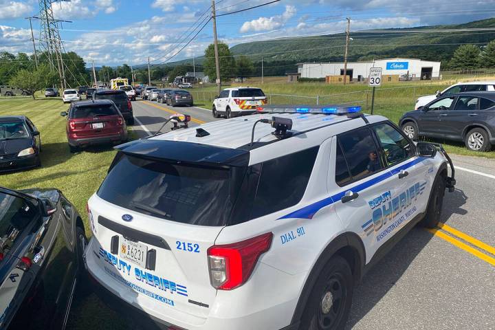
[[364, 272], [455, 184], [441, 146], [359, 110], [261, 107], [118, 146], [87, 207], [97, 292], [168, 329], [343, 329]]

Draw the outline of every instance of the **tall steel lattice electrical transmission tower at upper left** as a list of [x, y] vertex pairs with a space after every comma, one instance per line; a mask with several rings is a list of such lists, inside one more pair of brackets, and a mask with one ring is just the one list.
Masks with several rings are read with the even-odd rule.
[[41, 52], [47, 57], [48, 65], [52, 71], [58, 72], [62, 89], [67, 86], [65, 80], [65, 69], [62, 58], [62, 41], [58, 31], [58, 23], [68, 22], [55, 19], [52, 4], [70, 0], [39, 0], [39, 17], [34, 17], [40, 21], [39, 46]]

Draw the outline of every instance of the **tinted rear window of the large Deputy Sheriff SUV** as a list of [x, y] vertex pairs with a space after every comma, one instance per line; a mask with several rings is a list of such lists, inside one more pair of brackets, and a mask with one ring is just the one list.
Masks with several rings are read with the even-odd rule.
[[100, 198], [180, 223], [216, 226], [228, 222], [236, 191], [231, 184], [234, 168], [179, 165], [122, 153], [117, 157], [98, 189]]

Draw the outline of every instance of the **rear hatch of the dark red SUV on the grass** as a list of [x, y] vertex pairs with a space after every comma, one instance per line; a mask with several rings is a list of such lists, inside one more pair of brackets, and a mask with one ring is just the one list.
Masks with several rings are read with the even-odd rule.
[[85, 104], [74, 107], [69, 113], [71, 138], [102, 137], [117, 135], [124, 126], [124, 120], [113, 104]]

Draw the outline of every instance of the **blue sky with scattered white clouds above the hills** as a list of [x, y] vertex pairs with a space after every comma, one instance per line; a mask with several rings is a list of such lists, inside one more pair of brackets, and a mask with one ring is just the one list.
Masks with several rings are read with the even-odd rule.
[[[241, 10], [270, 0], [216, 0], [217, 14]], [[212, 23], [197, 39], [168, 60], [210, 8], [210, 0], [72, 0], [54, 3], [63, 23], [61, 37], [96, 65], [137, 65], [201, 56], [212, 42]], [[36, 0], [0, 0], [0, 52], [32, 52], [29, 21], [38, 14]], [[219, 38], [236, 45], [248, 41], [344, 32], [351, 17], [351, 33], [373, 28], [464, 23], [494, 17], [495, 0], [282, 0], [254, 10], [219, 17]], [[201, 24], [202, 25], [202, 24]], [[34, 37], [39, 22], [33, 21]], [[192, 33], [193, 35], [195, 33]]]

